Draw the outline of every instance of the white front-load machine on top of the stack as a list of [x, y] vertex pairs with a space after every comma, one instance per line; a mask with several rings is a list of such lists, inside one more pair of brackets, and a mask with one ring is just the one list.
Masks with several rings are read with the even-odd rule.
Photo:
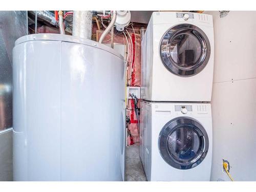
[[141, 53], [142, 99], [211, 100], [214, 72], [211, 15], [153, 12]]

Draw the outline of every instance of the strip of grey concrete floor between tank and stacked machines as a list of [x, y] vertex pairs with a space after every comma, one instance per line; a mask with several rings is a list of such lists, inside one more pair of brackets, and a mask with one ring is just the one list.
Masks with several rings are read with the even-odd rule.
[[146, 181], [144, 169], [140, 160], [140, 147], [126, 147], [125, 181]]

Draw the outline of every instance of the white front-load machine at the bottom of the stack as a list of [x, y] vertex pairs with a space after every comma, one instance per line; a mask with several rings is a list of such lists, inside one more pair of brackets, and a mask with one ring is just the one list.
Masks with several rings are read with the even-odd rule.
[[140, 158], [148, 181], [209, 181], [210, 103], [141, 101]]

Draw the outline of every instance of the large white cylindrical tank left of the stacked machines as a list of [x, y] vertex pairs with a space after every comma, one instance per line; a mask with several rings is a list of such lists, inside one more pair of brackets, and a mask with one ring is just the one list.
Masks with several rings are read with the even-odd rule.
[[125, 67], [98, 42], [60, 34], [13, 49], [13, 180], [124, 179]]

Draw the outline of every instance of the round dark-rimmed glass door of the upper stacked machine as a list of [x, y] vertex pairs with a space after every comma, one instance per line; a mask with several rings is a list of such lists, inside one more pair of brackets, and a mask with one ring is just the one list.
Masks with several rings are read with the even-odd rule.
[[164, 66], [179, 76], [193, 76], [204, 69], [210, 57], [210, 43], [197, 26], [181, 24], [170, 28], [160, 44]]

